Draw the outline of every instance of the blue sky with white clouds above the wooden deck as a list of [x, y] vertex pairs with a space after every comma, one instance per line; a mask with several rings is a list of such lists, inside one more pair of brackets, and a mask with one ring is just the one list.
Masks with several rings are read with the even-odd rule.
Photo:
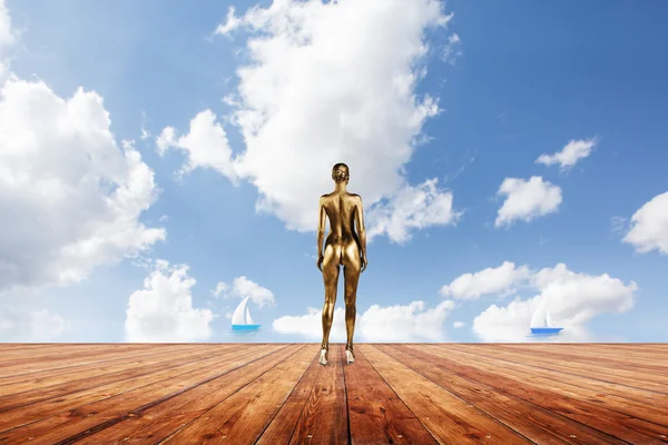
[[0, 340], [320, 342], [343, 161], [355, 340], [667, 342], [666, 13], [0, 0]]

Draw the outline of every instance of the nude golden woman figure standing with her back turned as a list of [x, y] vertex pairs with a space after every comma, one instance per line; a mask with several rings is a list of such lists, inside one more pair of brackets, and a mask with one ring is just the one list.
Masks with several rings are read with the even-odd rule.
[[[350, 170], [345, 164], [336, 164], [332, 168], [332, 179], [335, 188], [320, 199], [320, 222], [317, 227], [317, 268], [323, 273], [325, 281], [325, 306], [323, 307], [323, 343], [321, 346], [321, 365], [327, 364], [330, 350], [330, 330], [334, 318], [334, 304], [336, 303], [336, 288], [338, 286], [338, 266], [343, 266], [345, 280], [345, 330], [347, 340], [345, 355], [347, 363], [355, 360], [353, 353], [353, 334], [355, 333], [355, 304], [357, 299], [357, 281], [360, 273], [367, 266], [366, 261], [366, 233], [362, 198], [360, 195], [350, 194], [345, 189]], [[330, 219], [330, 234], [325, 240], [323, 254], [323, 238], [325, 222]], [[355, 226], [357, 231], [355, 233]]]

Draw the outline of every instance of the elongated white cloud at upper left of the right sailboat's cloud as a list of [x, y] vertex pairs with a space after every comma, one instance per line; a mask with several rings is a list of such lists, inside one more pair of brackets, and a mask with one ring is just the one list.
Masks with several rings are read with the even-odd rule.
[[485, 294], [507, 294], [531, 276], [527, 266], [515, 267], [514, 263], [503, 261], [499, 267], [463, 274], [444, 285], [440, 294], [444, 297], [475, 299]]

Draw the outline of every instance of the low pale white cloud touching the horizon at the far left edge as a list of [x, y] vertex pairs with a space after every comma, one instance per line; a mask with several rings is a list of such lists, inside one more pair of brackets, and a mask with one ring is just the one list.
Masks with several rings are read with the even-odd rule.
[[0, 339], [2, 342], [55, 340], [65, 332], [66, 320], [49, 309], [27, 306], [0, 306]]

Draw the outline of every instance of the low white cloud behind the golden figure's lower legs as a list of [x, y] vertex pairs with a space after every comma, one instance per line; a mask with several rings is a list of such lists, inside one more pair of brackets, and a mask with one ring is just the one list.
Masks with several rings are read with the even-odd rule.
[[[433, 308], [425, 308], [423, 301], [409, 305], [382, 307], [371, 306], [364, 314], [357, 314], [355, 339], [369, 342], [439, 342], [446, 338], [443, 324], [454, 309], [454, 301], [444, 300]], [[281, 334], [295, 334], [308, 338], [322, 338], [322, 310], [310, 307], [305, 315], [283, 316], [274, 320], [274, 330]], [[345, 310], [334, 310], [334, 323], [330, 342], [345, 340]]]

